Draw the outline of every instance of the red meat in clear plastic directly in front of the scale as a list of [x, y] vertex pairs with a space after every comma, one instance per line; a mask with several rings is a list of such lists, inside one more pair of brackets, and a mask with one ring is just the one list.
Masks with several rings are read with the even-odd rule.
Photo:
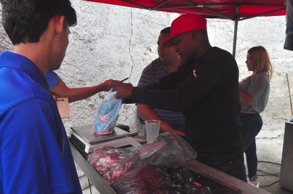
[[140, 158], [139, 152], [126, 148], [100, 146], [88, 154], [89, 164], [111, 185], [125, 175], [133, 162]]

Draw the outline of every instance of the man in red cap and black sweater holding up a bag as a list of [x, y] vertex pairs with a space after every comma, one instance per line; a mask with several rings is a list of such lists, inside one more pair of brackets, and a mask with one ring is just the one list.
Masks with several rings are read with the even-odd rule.
[[193, 14], [181, 15], [172, 22], [171, 37], [163, 46], [174, 46], [187, 63], [145, 88], [115, 82], [112, 86], [117, 97], [182, 110], [185, 138], [197, 151], [197, 160], [246, 181], [235, 59], [229, 52], [210, 46], [207, 20]]

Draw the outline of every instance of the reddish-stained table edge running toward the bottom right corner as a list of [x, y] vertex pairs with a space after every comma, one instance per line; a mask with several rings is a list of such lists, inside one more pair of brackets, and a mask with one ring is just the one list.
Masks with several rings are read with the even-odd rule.
[[238, 188], [242, 191], [243, 194], [270, 194], [269, 192], [252, 186], [251, 184], [248, 184], [233, 176], [227, 175], [226, 173], [218, 171], [196, 160], [188, 168], [220, 184], [223, 184], [232, 190]]

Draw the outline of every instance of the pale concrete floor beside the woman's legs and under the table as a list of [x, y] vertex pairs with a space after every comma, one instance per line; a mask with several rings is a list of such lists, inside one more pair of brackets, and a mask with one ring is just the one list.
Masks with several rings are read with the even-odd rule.
[[[275, 138], [257, 138], [256, 145], [258, 161], [267, 161], [281, 164], [283, 150], [282, 135], [277, 135]], [[267, 162], [259, 162], [258, 170], [268, 172], [270, 174], [280, 173], [280, 165], [271, 164]], [[258, 178], [261, 189], [272, 194], [293, 194], [293, 192], [280, 187], [279, 182], [273, 184], [272, 186], [265, 187], [267, 185], [272, 184], [275, 181], [278, 181], [280, 179], [280, 175], [278, 174], [276, 176], [261, 176], [264, 174], [265, 173], [258, 172]], [[91, 189], [92, 194], [99, 194], [99, 192], [93, 186], [91, 187]], [[83, 194], [90, 194], [89, 187], [83, 190]]]

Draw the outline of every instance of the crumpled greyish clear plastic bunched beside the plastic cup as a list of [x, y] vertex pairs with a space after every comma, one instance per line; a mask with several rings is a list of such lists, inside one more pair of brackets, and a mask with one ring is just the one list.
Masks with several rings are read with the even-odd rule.
[[[156, 165], [165, 165], [167, 167], [183, 167], [188, 166], [192, 163], [197, 157], [196, 151], [179, 136], [175, 136], [172, 133], [161, 133], [153, 144], [159, 142], [165, 142], [164, 146], [160, 149], [156, 149], [155, 153], [150, 153], [144, 151], [145, 148], [141, 146], [139, 152], [142, 156], [142, 153], [145, 152], [145, 156], [141, 157], [141, 160], [138, 161], [142, 165], [144, 164], [156, 164]], [[152, 145], [152, 144], [148, 144]], [[148, 153], [150, 153], [148, 155]]]

